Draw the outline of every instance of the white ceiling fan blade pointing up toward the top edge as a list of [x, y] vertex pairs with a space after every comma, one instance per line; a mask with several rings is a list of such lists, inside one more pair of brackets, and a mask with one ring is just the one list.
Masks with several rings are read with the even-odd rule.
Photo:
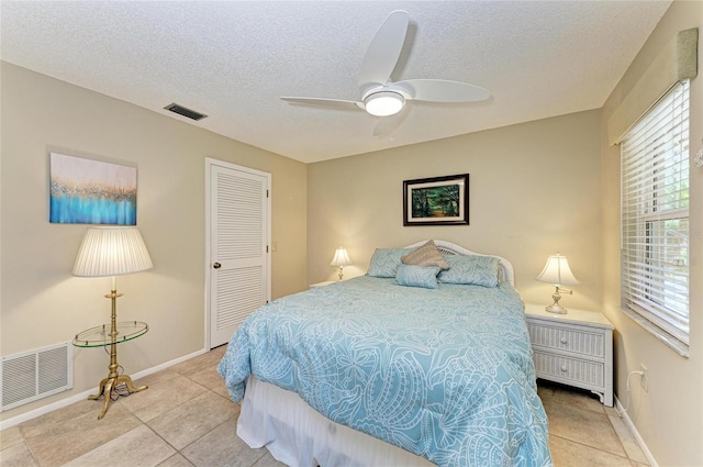
[[388, 15], [366, 51], [359, 70], [359, 89], [384, 85], [393, 73], [408, 33], [409, 14], [395, 10]]

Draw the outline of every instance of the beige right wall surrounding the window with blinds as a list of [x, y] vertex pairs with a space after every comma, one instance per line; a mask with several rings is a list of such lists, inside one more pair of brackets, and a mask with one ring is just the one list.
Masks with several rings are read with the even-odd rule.
[[[631, 410], [638, 433], [660, 466], [703, 465], [703, 168], [691, 165], [690, 358], [669, 349], [620, 311], [620, 148], [607, 147], [606, 123], [654, 57], [679, 31], [703, 27], [703, 2], [674, 1], [602, 109], [603, 310], [615, 324], [615, 380], [627, 400], [626, 379], [639, 364], [648, 368], [649, 391], [632, 381]], [[699, 77], [691, 81], [691, 152], [703, 146], [703, 47]]]

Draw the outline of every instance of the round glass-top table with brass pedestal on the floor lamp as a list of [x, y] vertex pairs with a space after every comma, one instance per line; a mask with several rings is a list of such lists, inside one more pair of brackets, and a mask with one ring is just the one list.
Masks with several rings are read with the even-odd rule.
[[115, 323], [114, 313], [112, 314], [111, 324], [102, 324], [100, 326], [91, 327], [76, 334], [72, 344], [76, 347], [105, 347], [110, 346], [110, 365], [108, 366], [108, 377], [100, 381], [98, 387], [98, 393], [88, 396], [90, 400], [98, 400], [104, 396], [104, 405], [102, 411], [98, 415], [98, 420], [105, 416], [110, 401], [112, 400], [112, 392], [115, 391], [118, 396], [125, 396], [116, 392], [116, 387], [124, 385], [130, 393], [143, 391], [148, 389], [148, 386], [135, 387], [132, 382], [132, 378], [129, 375], [120, 375], [118, 373], [118, 344], [135, 340], [149, 330], [148, 324], [141, 321], [124, 321]]

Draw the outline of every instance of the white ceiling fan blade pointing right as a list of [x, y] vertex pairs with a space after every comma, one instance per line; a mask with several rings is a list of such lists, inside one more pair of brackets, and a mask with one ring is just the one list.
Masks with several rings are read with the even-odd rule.
[[491, 92], [480, 86], [445, 79], [406, 79], [392, 86], [409, 91], [414, 100], [432, 102], [476, 102], [491, 97]]

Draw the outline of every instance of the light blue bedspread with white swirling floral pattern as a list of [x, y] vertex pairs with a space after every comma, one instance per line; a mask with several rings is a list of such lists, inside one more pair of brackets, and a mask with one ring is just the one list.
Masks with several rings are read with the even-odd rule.
[[549, 466], [523, 302], [512, 286], [359, 277], [254, 312], [217, 367], [297, 392], [337, 423], [439, 466]]

